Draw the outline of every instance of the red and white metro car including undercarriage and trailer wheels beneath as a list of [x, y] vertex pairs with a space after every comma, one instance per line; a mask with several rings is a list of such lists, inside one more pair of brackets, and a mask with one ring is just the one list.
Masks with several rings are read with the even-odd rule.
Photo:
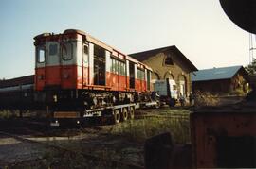
[[133, 118], [136, 103], [153, 100], [152, 69], [87, 33], [68, 29], [34, 40], [36, 101], [46, 102], [54, 119], [109, 110], [119, 122]]

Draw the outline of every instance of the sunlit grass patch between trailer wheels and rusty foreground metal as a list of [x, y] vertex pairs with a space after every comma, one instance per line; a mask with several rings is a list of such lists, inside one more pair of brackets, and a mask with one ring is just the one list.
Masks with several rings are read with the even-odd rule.
[[189, 111], [169, 109], [157, 114], [141, 115], [137, 120], [120, 123], [112, 129], [112, 134], [140, 143], [163, 132], [171, 132], [174, 143], [190, 143]]

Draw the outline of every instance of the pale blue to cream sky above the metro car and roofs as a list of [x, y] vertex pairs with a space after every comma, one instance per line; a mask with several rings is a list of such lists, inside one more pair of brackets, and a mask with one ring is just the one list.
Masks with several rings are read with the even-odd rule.
[[248, 33], [218, 0], [1, 0], [0, 78], [34, 74], [33, 37], [69, 28], [125, 54], [176, 45], [197, 69], [249, 62]]

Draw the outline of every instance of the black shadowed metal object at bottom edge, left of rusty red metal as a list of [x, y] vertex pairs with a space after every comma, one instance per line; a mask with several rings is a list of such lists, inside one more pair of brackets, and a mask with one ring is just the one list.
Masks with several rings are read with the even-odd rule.
[[173, 144], [169, 132], [149, 138], [144, 144], [145, 168], [191, 168], [191, 144]]

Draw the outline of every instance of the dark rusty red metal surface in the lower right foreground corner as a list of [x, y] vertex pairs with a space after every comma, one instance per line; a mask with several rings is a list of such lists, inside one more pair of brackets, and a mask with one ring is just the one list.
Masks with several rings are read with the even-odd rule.
[[191, 114], [196, 168], [256, 167], [254, 103], [211, 107]]

